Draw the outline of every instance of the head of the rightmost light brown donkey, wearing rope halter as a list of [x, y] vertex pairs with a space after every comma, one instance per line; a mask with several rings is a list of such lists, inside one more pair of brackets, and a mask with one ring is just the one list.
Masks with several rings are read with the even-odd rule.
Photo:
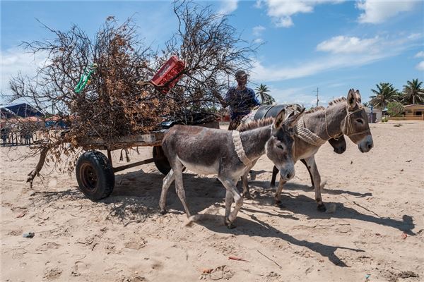
[[360, 104], [361, 98], [358, 90], [349, 90], [347, 103], [348, 114], [341, 124], [341, 130], [352, 142], [358, 145], [360, 152], [366, 153], [374, 146], [367, 114]]

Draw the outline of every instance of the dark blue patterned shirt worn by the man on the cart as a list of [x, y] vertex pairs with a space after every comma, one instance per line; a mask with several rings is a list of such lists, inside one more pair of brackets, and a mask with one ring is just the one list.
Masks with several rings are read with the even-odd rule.
[[231, 119], [237, 116], [245, 116], [249, 114], [254, 106], [259, 106], [256, 95], [252, 88], [246, 87], [244, 90], [237, 90], [237, 87], [230, 87], [225, 94], [225, 102], [230, 106]]

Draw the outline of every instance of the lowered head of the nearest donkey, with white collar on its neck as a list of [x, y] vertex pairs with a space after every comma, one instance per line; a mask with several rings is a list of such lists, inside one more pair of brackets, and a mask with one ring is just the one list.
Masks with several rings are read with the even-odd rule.
[[293, 145], [295, 126], [305, 108], [285, 114], [282, 109], [271, 125], [271, 138], [266, 142], [266, 156], [276, 165], [281, 179], [287, 181], [295, 176], [295, 161], [293, 160]]

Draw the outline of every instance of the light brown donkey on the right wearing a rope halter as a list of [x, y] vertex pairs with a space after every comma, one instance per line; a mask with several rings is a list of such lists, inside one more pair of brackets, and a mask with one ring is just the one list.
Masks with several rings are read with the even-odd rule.
[[[358, 145], [360, 152], [366, 153], [374, 146], [370, 126], [368, 125], [367, 114], [360, 104], [361, 97], [358, 90], [349, 90], [347, 99], [342, 97], [329, 103], [329, 106], [311, 114], [305, 114], [299, 121], [309, 128], [314, 135], [322, 140], [329, 140], [334, 136], [346, 135]], [[299, 124], [298, 124], [299, 125]], [[299, 129], [298, 127], [296, 128]], [[295, 161], [305, 159], [308, 168], [312, 173], [312, 180], [315, 190], [315, 201], [320, 212], [325, 212], [326, 207], [321, 197], [321, 176], [315, 163], [314, 154], [319, 146], [312, 146], [295, 135], [295, 149], [293, 150]], [[281, 202], [281, 191], [287, 180], [281, 178], [276, 190], [276, 204]]]

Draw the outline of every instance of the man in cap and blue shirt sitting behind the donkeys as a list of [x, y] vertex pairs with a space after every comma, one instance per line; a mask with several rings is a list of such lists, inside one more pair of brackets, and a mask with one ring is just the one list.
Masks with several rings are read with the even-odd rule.
[[261, 104], [252, 88], [246, 87], [248, 76], [245, 71], [237, 71], [235, 73], [237, 87], [230, 87], [227, 94], [225, 94], [224, 101], [221, 101], [224, 108], [230, 106], [230, 125], [228, 130], [235, 130], [240, 125], [242, 118], [249, 114], [252, 108]]

